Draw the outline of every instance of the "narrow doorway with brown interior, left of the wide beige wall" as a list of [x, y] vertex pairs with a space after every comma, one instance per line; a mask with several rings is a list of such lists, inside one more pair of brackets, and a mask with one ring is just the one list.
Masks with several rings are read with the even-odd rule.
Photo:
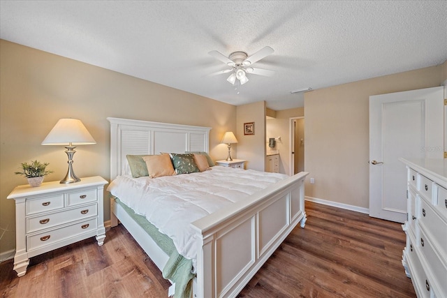
[[305, 117], [290, 118], [290, 170], [291, 175], [305, 170]]

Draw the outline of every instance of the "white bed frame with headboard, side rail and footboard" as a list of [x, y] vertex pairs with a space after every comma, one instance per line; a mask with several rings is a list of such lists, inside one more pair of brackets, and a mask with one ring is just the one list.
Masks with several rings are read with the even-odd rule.
[[[110, 179], [129, 174], [126, 154], [209, 150], [209, 127], [131, 119], [110, 121]], [[196, 230], [197, 276], [193, 297], [235, 297], [298, 223], [305, 227], [304, 182], [295, 174], [247, 200], [191, 223]], [[168, 261], [126, 211], [110, 200], [111, 225], [118, 220], [160, 270]], [[172, 288], [170, 289], [170, 294]]]

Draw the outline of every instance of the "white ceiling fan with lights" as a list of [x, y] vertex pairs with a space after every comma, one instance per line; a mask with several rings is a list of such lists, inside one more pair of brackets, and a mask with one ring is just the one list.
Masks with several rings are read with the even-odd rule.
[[219, 61], [222, 61], [224, 64], [230, 66], [230, 69], [220, 70], [217, 73], [212, 73], [211, 75], [221, 75], [223, 73], [231, 73], [230, 76], [226, 79], [230, 84], [235, 85], [236, 79], [239, 80], [240, 84], [243, 85], [249, 81], [247, 77], [247, 73], [253, 75], [265, 75], [267, 77], [271, 77], [274, 75], [273, 70], [262, 69], [262, 68], [254, 68], [252, 65], [272, 54], [274, 50], [271, 47], [263, 47], [258, 52], [248, 56], [246, 52], [233, 52], [229, 57], [221, 54], [217, 51], [208, 52], [212, 57], [216, 58]]

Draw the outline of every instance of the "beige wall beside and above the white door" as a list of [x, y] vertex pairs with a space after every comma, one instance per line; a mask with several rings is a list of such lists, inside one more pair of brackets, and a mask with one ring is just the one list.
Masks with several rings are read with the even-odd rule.
[[369, 96], [440, 86], [443, 66], [375, 77], [305, 94], [306, 195], [369, 206]]

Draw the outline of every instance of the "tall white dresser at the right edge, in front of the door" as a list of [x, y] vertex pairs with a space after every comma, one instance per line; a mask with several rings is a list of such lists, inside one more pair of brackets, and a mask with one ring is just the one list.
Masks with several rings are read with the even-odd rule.
[[408, 169], [402, 264], [418, 297], [447, 297], [447, 160], [400, 161]]

